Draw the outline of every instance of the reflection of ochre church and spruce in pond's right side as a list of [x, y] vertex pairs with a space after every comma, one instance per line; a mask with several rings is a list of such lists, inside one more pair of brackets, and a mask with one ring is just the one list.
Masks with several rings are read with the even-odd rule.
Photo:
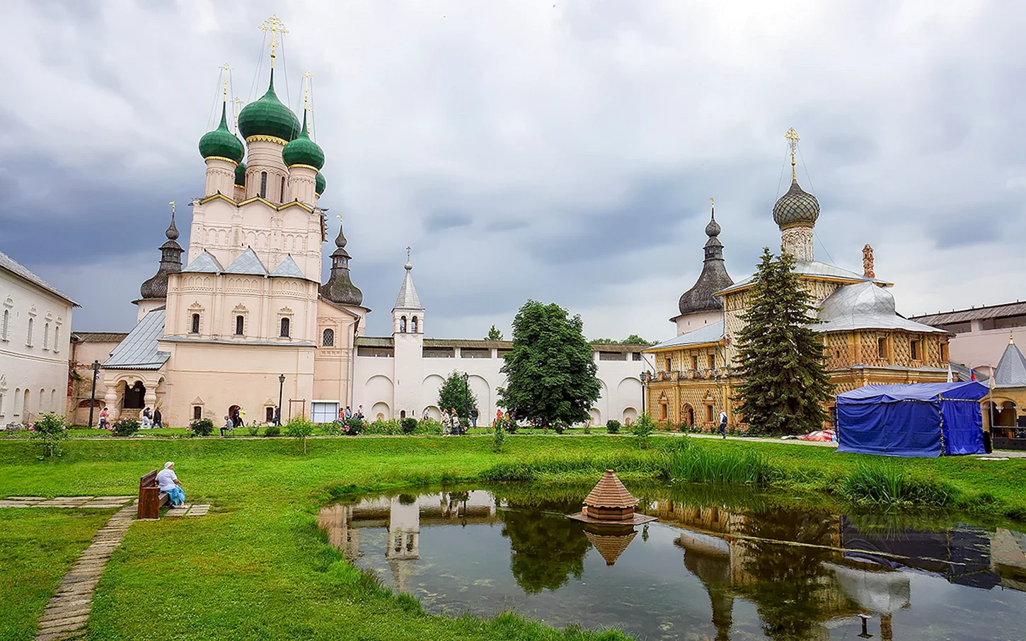
[[[770, 638], [826, 641], [830, 629], [879, 617], [883, 641], [893, 616], [911, 607], [909, 573], [989, 590], [1026, 591], [1026, 539], [1008, 529], [959, 524], [938, 532], [868, 527], [827, 513], [765, 514], [659, 500], [650, 514], [683, 528], [674, 544], [702, 580], [716, 639], [729, 639], [734, 600], [755, 603]], [[783, 543], [782, 543], [783, 542]]]

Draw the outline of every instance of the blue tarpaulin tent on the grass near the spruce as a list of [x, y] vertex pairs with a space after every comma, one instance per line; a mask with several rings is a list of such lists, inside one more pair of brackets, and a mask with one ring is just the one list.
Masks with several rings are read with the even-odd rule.
[[[889, 456], [983, 453], [979, 383], [867, 385], [837, 395], [837, 451]], [[943, 438], [942, 438], [943, 436]]]

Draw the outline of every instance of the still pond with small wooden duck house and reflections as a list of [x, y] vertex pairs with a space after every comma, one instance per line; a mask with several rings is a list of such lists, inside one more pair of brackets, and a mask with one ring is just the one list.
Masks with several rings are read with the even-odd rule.
[[425, 610], [641, 639], [1026, 639], [1026, 535], [715, 486], [628, 488], [656, 522], [565, 518], [590, 487], [423, 489], [324, 508], [331, 545]]

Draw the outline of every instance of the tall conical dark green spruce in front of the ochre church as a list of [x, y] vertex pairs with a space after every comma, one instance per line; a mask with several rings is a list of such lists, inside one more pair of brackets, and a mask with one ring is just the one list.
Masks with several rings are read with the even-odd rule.
[[794, 256], [763, 248], [748, 309], [738, 332], [739, 410], [755, 433], [802, 434], [822, 429], [833, 393], [823, 335], [812, 324], [812, 294], [794, 273]]

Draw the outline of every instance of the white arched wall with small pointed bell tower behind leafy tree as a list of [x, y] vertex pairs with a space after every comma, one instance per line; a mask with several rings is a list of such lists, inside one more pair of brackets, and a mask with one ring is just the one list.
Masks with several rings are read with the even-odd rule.
[[[453, 371], [466, 372], [477, 398], [478, 425], [488, 425], [496, 415], [498, 389], [506, 385], [499, 370], [503, 355], [513, 348], [509, 340], [425, 338], [425, 312], [413, 286], [412, 266], [407, 263], [399, 296], [392, 310], [391, 336], [360, 336], [356, 339], [353, 376], [353, 409], [363, 406], [369, 420], [415, 416], [427, 410], [440, 417], [438, 391]], [[633, 422], [643, 406], [641, 372], [652, 371], [641, 356], [642, 345], [595, 345], [597, 377], [602, 395], [591, 409], [592, 423], [604, 425], [614, 418]], [[318, 407], [322, 405], [318, 404]], [[330, 404], [323, 415], [338, 412]]]

